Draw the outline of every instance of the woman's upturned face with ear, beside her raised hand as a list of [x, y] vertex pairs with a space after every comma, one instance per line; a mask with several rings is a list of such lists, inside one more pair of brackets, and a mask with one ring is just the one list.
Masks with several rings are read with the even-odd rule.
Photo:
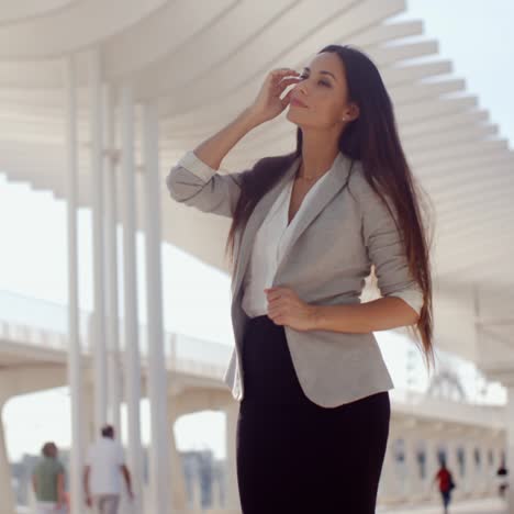
[[357, 107], [347, 99], [346, 75], [339, 57], [329, 52], [317, 54], [293, 87], [287, 119], [301, 127], [343, 127], [358, 115]]

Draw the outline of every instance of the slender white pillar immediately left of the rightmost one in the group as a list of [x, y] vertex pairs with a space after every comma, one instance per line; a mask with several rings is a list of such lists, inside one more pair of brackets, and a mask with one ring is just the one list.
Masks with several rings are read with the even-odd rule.
[[135, 242], [134, 104], [132, 89], [124, 86], [122, 108], [122, 195], [123, 195], [123, 275], [124, 336], [126, 357], [126, 405], [128, 416], [128, 463], [135, 500], [133, 513], [141, 514], [143, 499], [143, 449], [141, 445], [141, 358], [137, 317], [137, 268]]

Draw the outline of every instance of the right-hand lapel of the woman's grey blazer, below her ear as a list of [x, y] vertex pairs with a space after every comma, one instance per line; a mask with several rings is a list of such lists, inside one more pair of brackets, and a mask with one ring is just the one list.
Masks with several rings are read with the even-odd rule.
[[275, 273], [275, 279], [279, 276], [281, 267], [287, 262], [288, 255], [291, 252], [291, 248], [294, 246], [294, 243], [303, 234], [306, 227], [314, 221], [314, 219], [323, 211], [325, 205], [343, 189], [350, 171], [350, 167], [351, 159], [339, 152], [334, 160], [333, 168], [327, 171], [329, 175], [323, 179], [320, 188], [317, 191], [315, 191], [314, 197], [311, 199], [312, 201], [305, 205], [304, 210], [301, 210], [301, 212], [298, 213], [300, 219], [298, 220], [297, 226], [291, 234], [288, 246], [283, 250], [282, 258], [280, 259], [280, 262], [277, 267], [277, 272]]

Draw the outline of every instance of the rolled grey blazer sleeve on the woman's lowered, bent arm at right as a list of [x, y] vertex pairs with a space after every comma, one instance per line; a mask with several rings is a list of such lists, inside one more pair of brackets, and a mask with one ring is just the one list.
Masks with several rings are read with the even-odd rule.
[[380, 293], [401, 298], [420, 315], [423, 292], [410, 272], [400, 231], [380, 197], [369, 185], [364, 189], [360, 200], [362, 233]]

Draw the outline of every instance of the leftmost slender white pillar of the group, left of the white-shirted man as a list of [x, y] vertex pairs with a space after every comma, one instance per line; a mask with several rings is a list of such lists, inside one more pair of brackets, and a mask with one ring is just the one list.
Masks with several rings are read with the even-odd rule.
[[75, 59], [69, 56], [64, 67], [66, 88], [66, 211], [68, 231], [68, 382], [71, 403], [71, 455], [69, 482], [71, 514], [83, 511], [82, 491], [82, 415], [81, 390], [82, 367], [79, 336], [79, 288], [77, 250], [77, 91], [75, 83]]

